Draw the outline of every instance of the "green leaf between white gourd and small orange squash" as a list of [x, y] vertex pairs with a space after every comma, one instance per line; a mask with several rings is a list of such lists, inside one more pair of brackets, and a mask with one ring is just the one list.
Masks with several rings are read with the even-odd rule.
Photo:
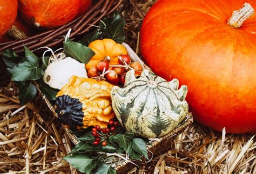
[[88, 63], [91, 57], [95, 55], [95, 52], [89, 47], [86, 47], [78, 42], [63, 42], [64, 53], [67, 56], [76, 59], [81, 63]]

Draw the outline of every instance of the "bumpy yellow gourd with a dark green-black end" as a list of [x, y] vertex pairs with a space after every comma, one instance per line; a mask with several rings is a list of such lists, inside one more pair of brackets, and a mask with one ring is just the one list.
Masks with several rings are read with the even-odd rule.
[[72, 128], [107, 127], [115, 116], [110, 98], [112, 88], [106, 81], [72, 76], [56, 96], [60, 122]]

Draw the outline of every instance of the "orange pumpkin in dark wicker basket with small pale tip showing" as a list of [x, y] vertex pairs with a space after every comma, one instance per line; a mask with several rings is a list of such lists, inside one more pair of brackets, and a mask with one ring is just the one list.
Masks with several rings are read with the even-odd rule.
[[[91, 0], [87, 1], [91, 2]], [[54, 28], [75, 18], [82, 4], [88, 6], [91, 4], [84, 2], [85, 0], [18, 0], [18, 5], [23, 19], [30, 25]]]

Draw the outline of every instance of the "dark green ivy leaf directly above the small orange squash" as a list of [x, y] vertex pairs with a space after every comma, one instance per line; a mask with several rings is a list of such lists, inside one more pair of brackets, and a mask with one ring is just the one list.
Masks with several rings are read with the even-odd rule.
[[125, 40], [124, 25], [124, 18], [116, 20], [114, 24], [106, 26], [105, 30], [102, 33], [102, 37], [113, 39], [117, 43], [122, 44]]

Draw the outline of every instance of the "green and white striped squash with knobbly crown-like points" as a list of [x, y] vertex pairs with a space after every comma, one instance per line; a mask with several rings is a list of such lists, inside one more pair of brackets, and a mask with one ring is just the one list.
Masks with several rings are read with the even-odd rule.
[[112, 107], [127, 132], [146, 138], [169, 134], [188, 113], [185, 101], [187, 86], [178, 90], [179, 81], [164, 78], [143, 70], [139, 78], [130, 70], [124, 88], [111, 90]]

